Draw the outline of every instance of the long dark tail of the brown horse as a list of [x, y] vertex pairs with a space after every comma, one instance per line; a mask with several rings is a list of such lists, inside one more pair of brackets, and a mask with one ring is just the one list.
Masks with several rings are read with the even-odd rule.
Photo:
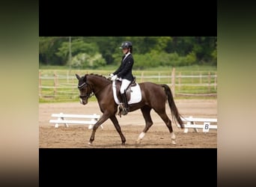
[[181, 120], [180, 118], [181, 115], [177, 109], [177, 106], [175, 105], [174, 97], [172, 96], [171, 89], [168, 87], [168, 85], [162, 85], [162, 87], [165, 88], [165, 93], [168, 97], [168, 104], [171, 108], [172, 118], [175, 119], [177, 123], [180, 124], [180, 127], [183, 129], [184, 128], [183, 120]]

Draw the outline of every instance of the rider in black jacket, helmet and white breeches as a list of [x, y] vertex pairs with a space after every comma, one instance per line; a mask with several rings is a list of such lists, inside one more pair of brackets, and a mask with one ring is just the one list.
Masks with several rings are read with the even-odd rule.
[[129, 84], [133, 80], [132, 76], [132, 66], [133, 66], [133, 57], [132, 57], [132, 43], [129, 41], [125, 41], [124, 43], [121, 44], [120, 49], [123, 50], [123, 57], [121, 60], [121, 65], [118, 67], [118, 70], [116, 70], [114, 73], [111, 73], [111, 80], [114, 81], [115, 79], [120, 79], [121, 80], [121, 97], [122, 97], [122, 102], [124, 103], [124, 108], [123, 108], [123, 113], [126, 115], [129, 111], [128, 108], [128, 102], [127, 102], [127, 96], [126, 96], [126, 89], [129, 86]]

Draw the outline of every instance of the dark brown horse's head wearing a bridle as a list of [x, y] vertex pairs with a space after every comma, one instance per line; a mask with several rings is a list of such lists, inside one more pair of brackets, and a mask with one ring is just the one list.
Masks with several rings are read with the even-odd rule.
[[80, 103], [86, 105], [88, 103], [88, 98], [92, 96], [93, 91], [90, 85], [88, 85], [88, 83], [86, 82], [86, 76], [80, 77], [76, 74], [76, 79], [79, 80], [77, 88], [79, 88], [80, 92]]

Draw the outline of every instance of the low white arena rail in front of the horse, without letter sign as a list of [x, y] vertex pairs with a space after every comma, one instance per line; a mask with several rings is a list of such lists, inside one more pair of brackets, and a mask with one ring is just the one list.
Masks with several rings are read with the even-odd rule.
[[[64, 123], [66, 127], [68, 124], [88, 124], [88, 129], [92, 129], [97, 120], [100, 119], [98, 114], [52, 114], [52, 117], [58, 117], [55, 120], [49, 120], [49, 123], [55, 123], [55, 128], [58, 128], [59, 123]], [[79, 118], [79, 119], [91, 119], [91, 120], [70, 120], [69, 118]], [[100, 125], [103, 129], [103, 125]]]

